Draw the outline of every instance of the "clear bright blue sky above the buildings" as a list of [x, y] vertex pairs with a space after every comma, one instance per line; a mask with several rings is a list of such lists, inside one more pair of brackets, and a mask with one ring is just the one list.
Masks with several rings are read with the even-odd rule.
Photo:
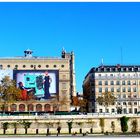
[[[101, 64], [140, 64], [140, 3], [0, 3], [0, 57], [75, 52], [77, 91]], [[122, 48], [122, 61], [121, 61]]]

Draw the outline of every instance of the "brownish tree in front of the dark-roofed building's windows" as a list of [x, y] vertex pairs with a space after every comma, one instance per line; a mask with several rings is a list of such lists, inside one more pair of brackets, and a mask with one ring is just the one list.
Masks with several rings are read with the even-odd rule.
[[105, 92], [102, 94], [102, 96], [99, 96], [96, 99], [96, 102], [98, 102], [100, 105], [103, 105], [105, 107], [105, 110], [107, 109], [108, 105], [112, 105], [116, 101], [116, 97], [111, 92]]

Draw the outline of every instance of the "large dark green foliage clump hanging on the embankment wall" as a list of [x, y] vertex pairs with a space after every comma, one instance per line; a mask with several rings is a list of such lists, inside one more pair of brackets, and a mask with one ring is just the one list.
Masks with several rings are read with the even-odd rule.
[[127, 132], [128, 130], [128, 125], [127, 125], [127, 122], [128, 122], [129, 118], [126, 117], [126, 116], [123, 116], [120, 118], [120, 122], [121, 122], [121, 130], [122, 132]]

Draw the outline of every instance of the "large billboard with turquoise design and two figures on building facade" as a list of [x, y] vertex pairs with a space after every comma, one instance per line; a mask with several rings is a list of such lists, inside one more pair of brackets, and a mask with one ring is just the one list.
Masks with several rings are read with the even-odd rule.
[[5, 76], [16, 81], [23, 100], [30, 92], [37, 100], [47, 100], [58, 93], [58, 70], [0, 70], [0, 81]]

